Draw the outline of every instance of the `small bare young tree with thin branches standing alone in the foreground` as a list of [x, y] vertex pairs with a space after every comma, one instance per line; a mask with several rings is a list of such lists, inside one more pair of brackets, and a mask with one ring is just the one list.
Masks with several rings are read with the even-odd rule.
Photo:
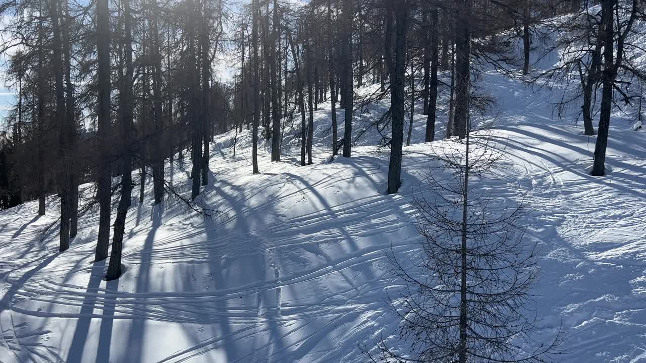
[[404, 264], [390, 256], [404, 288], [389, 305], [410, 349], [382, 339], [364, 352], [373, 362], [544, 362], [560, 338], [543, 345], [531, 337], [537, 317], [528, 303], [538, 270], [519, 227], [523, 204], [494, 202], [479, 188], [499, 178], [504, 150], [488, 132], [466, 132], [433, 153], [439, 165], [414, 199], [420, 258]]

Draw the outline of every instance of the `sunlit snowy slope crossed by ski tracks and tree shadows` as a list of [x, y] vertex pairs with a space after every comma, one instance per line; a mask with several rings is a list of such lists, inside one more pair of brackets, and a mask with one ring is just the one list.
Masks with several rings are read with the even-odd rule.
[[[612, 172], [593, 178], [594, 138], [552, 118], [547, 90], [493, 72], [483, 79], [499, 100], [508, 153], [491, 187], [528, 202], [522, 222], [543, 255], [537, 340], [563, 326], [563, 362], [646, 362], [644, 132], [613, 121]], [[284, 145], [280, 163], [264, 147], [261, 174], [251, 175], [249, 133], [236, 156], [233, 133], [216, 138], [202, 192], [222, 212], [214, 222], [176, 202], [153, 209], [150, 185], [145, 203], [133, 198], [118, 281], [102, 280], [105, 262], [92, 263], [96, 211], [62, 254], [55, 228], [41, 241], [54, 200], [41, 218], [34, 202], [0, 213], [0, 361], [364, 362], [359, 344], [397, 327], [384, 298], [399, 282], [385, 255], [415, 257], [411, 201], [432, 147], [420, 143], [417, 115], [401, 193], [384, 195], [388, 155], [371, 146], [374, 132], [352, 158], [328, 162], [326, 105], [315, 116], [306, 167], [297, 147]], [[190, 193], [183, 166], [167, 175]]]

